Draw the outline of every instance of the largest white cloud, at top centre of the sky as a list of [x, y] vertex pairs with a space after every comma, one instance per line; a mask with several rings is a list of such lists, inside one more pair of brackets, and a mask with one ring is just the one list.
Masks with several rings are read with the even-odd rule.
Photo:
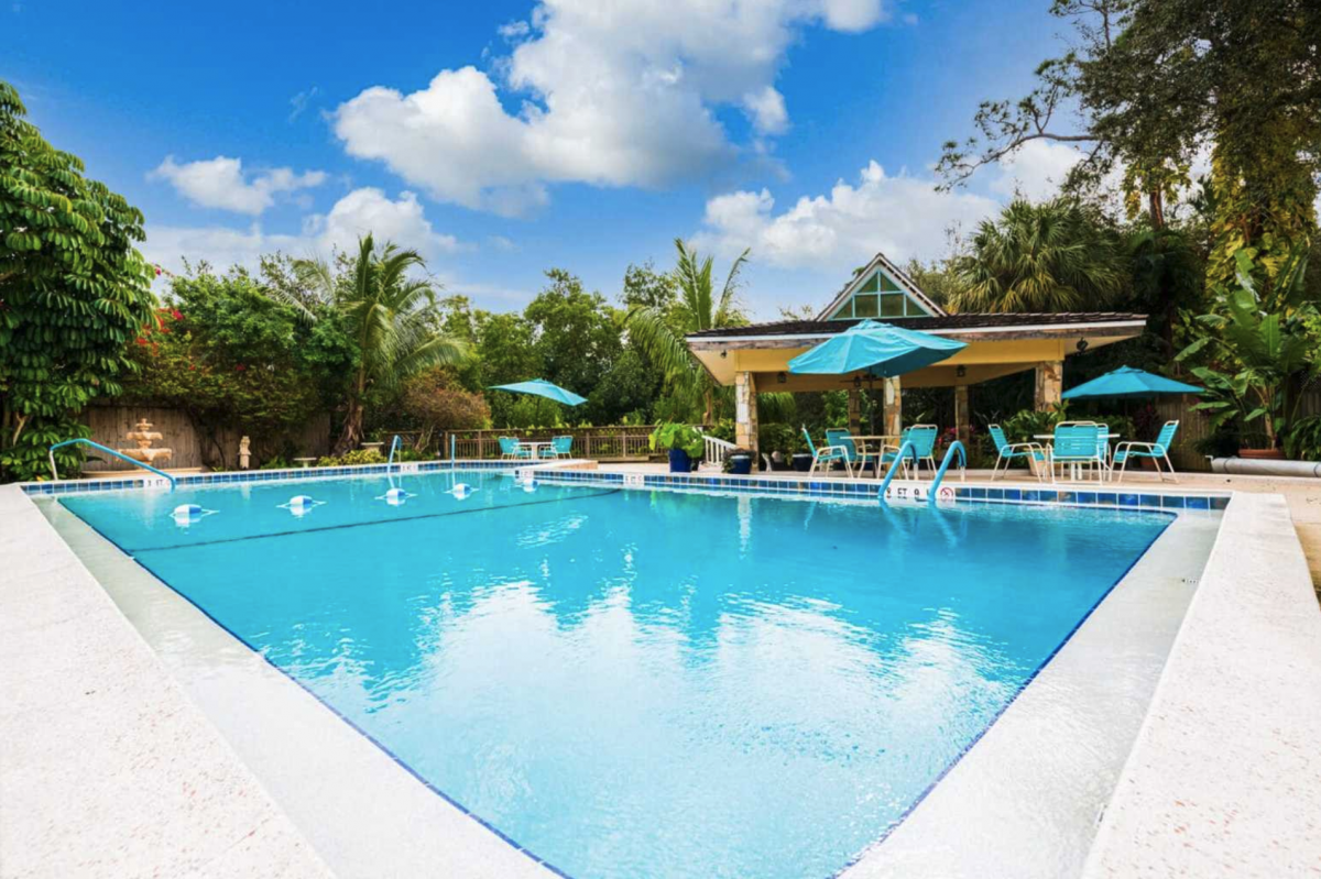
[[785, 131], [774, 79], [804, 26], [885, 15], [882, 0], [544, 0], [499, 29], [517, 45], [495, 79], [461, 67], [412, 94], [375, 86], [338, 107], [334, 131], [436, 199], [501, 214], [544, 203], [547, 183], [659, 186], [734, 158], [717, 107]]

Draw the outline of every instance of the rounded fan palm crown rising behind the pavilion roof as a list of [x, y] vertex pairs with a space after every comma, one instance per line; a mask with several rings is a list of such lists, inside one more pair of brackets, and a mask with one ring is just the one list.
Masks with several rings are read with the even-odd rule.
[[951, 311], [1089, 311], [1107, 306], [1124, 285], [1118, 238], [1077, 202], [1015, 199], [984, 220], [972, 252], [955, 260], [963, 289]]

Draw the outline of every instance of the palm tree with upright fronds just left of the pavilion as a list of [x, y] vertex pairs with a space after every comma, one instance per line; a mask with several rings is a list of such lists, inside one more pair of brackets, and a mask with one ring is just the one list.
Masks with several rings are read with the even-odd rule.
[[701, 259], [682, 238], [674, 239], [679, 252], [674, 278], [679, 284], [679, 300], [667, 310], [639, 305], [629, 310], [624, 319], [629, 335], [637, 339], [647, 358], [660, 367], [666, 381], [682, 396], [701, 399], [703, 422], [711, 424], [715, 405], [715, 385], [705, 368], [688, 350], [684, 337], [701, 330], [742, 326], [746, 315], [738, 309], [738, 272], [748, 261], [744, 251], [729, 267], [724, 286], [716, 296], [711, 280], [712, 257]]

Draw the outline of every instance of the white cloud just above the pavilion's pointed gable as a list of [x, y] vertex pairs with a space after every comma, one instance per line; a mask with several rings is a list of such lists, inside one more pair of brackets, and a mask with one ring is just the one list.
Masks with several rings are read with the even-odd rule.
[[758, 263], [838, 273], [877, 251], [896, 260], [933, 259], [946, 249], [946, 230], [968, 228], [999, 210], [972, 193], [938, 193], [930, 178], [892, 177], [871, 162], [857, 183], [843, 179], [830, 195], [801, 198], [775, 214], [768, 190], [737, 191], [707, 202], [694, 243], [734, 255], [753, 249]]

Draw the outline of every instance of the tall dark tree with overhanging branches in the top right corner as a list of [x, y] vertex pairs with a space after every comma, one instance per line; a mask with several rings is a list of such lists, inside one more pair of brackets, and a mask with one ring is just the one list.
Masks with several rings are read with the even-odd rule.
[[1069, 183], [1096, 186], [1122, 169], [1131, 215], [1145, 201], [1160, 231], [1165, 205], [1190, 186], [1192, 156], [1210, 148], [1206, 288], [1235, 282], [1243, 249], [1269, 286], [1317, 228], [1321, 4], [1054, 0], [1050, 11], [1075, 20], [1081, 48], [1042, 63], [1026, 98], [982, 104], [978, 136], [945, 145], [946, 185], [1032, 140], [1078, 143], [1086, 158]]

